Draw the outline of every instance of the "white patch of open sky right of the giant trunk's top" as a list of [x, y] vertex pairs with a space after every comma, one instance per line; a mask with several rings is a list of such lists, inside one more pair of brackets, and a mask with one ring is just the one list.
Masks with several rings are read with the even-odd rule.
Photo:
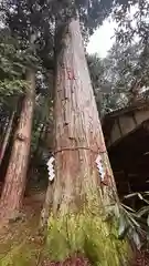
[[108, 50], [115, 42], [114, 33], [117, 24], [111, 20], [105, 20], [95, 33], [91, 37], [87, 45], [88, 53], [97, 53], [100, 58], [107, 55]]

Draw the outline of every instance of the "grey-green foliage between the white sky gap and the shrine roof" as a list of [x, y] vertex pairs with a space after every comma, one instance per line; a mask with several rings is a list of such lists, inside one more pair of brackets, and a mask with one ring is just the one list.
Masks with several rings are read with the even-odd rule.
[[[140, 43], [120, 44], [116, 41], [107, 58], [99, 59], [96, 54], [87, 55], [91, 79], [99, 106], [99, 112], [125, 108], [134, 99], [134, 88], [138, 96], [148, 98], [148, 53], [143, 54]], [[138, 86], [135, 83], [138, 82]], [[145, 92], [142, 89], [146, 89]]]

